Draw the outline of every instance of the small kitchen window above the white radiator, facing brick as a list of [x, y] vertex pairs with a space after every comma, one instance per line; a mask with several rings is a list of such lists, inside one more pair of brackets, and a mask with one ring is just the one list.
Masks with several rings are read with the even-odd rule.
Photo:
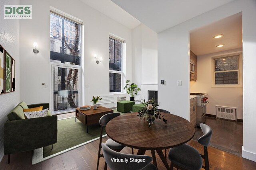
[[214, 59], [214, 84], [238, 84], [238, 56]]

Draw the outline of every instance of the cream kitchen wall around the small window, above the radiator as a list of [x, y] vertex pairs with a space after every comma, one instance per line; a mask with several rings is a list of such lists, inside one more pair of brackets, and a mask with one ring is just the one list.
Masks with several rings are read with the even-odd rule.
[[197, 56], [197, 80], [190, 81], [190, 92], [208, 94], [207, 114], [216, 115], [216, 106], [237, 107], [237, 119], [243, 119], [242, 55], [239, 57], [239, 87], [212, 87], [212, 57], [240, 54], [242, 49]]

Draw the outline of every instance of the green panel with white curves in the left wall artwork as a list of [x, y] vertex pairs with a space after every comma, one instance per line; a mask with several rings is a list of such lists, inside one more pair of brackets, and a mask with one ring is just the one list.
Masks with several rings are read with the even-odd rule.
[[12, 59], [10, 55], [6, 52], [5, 55], [5, 92], [11, 92], [11, 65]]

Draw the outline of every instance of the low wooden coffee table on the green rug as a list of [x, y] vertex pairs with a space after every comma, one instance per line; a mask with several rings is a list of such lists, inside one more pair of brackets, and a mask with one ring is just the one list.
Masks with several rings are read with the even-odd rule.
[[100, 121], [100, 117], [102, 117], [103, 115], [106, 115], [108, 113], [113, 113], [112, 109], [108, 109], [106, 107], [103, 106], [99, 106], [97, 109], [88, 109], [88, 110], [81, 110], [78, 108], [76, 108], [76, 118], [83, 123], [84, 125], [86, 125], [86, 133], [88, 133], [88, 126], [92, 125], [92, 124], [96, 124], [99, 123]]

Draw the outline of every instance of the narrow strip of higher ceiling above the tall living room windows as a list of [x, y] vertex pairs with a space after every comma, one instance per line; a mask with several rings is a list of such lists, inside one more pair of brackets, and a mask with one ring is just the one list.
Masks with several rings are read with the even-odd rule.
[[125, 10], [117, 6], [111, 0], [81, 0], [85, 4], [91, 6], [95, 10], [105, 14], [106, 16], [118, 21], [122, 25], [130, 29], [134, 29], [140, 25], [140, 21], [131, 16]]

